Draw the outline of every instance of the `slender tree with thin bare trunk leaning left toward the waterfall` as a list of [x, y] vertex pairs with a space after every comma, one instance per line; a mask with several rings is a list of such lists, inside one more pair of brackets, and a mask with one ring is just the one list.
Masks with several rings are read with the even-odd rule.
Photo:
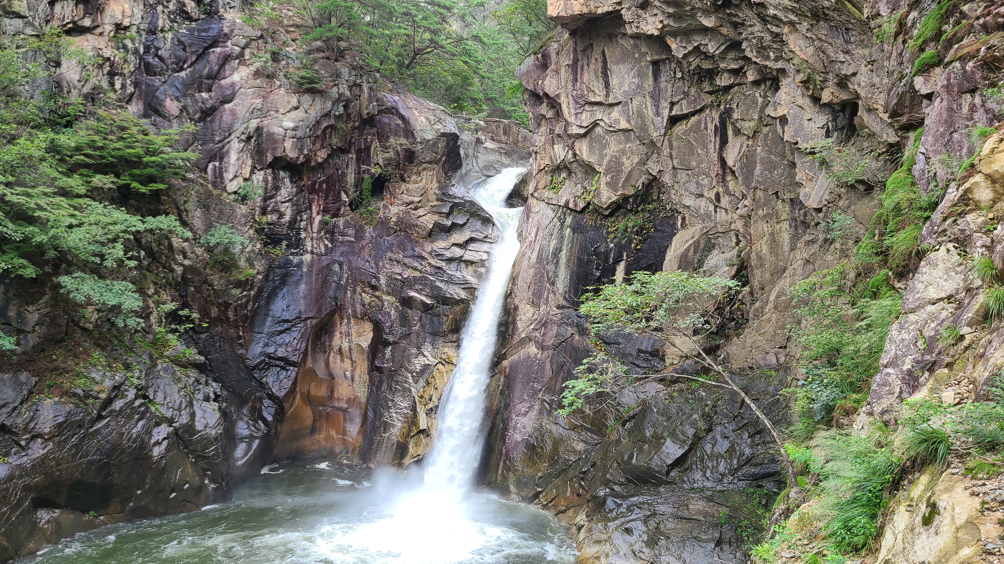
[[[791, 488], [796, 495], [800, 496], [797, 475], [787, 452], [784, 450], [781, 434], [757, 406], [756, 402], [736, 383], [732, 375], [705, 353], [700, 345], [701, 339], [718, 325], [715, 309], [719, 300], [726, 292], [734, 290], [738, 286], [739, 284], [733, 280], [704, 277], [689, 272], [657, 272], [655, 274], [637, 272], [628, 282], [599, 286], [597, 293], [582, 299], [579, 311], [589, 316], [594, 333], [623, 330], [663, 339], [670, 346], [676, 347], [682, 354], [690, 356], [721, 376], [726, 383], [698, 376], [677, 374], [711, 385], [727, 387], [738, 393], [774, 438], [781, 454], [781, 461], [787, 469]], [[679, 339], [689, 341], [692, 348], [681, 349], [675, 344]], [[696, 352], [690, 352], [690, 350]], [[609, 377], [609, 371], [606, 371], [606, 375], [601, 377]], [[583, 392], [589, 391], [596, 391], [596, 389], [583, 389]], [[569, 400], [574, 401], [576, 397], [574, 395], [563, 396], [562, 399], [567, 407]]]

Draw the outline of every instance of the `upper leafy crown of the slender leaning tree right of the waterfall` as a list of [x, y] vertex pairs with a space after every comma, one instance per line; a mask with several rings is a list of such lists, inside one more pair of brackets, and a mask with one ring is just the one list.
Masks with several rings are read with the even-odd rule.
[[707, 316], [734, 280], [690, 272], [636, 272], [622, 284], [606, 284], [582, 297], [579, 311], [589, 316], [593, 332], [677, 332], [710, 328]]

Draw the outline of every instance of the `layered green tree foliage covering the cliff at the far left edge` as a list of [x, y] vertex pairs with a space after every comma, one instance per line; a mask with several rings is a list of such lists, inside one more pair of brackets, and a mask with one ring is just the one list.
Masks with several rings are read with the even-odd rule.
[[[34, 277], [39, 261], [64, 258], [131, 268], [127, 245], [140, 232], [188, 237], [177, 218], [141, 218], [114, 202], [165, 188], [194, 158], [172, 150], [173, 131], [155, 133], [121, 110], [85, 106], [33, 91], [49, 66], [74, 55], [58, 31], [0, 42], [0, 273]], [[44, 63], [43, 63], [44, 61]], [[85, 61], [84, 61], [85, 62]], [[47, 63], [47, 64], [46, 64]]]

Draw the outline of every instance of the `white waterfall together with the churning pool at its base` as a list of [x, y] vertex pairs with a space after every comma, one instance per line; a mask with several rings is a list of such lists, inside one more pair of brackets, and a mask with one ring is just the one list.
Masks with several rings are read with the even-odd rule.
[[39, 563], [570, 564], [574, 546], [550, 515], [472, 491], [499, 315], [519, 252], [522, 208], [505, 201], [524, 169], [474, 191], [499, 238], [475, 298], [436, 443], [418, 484], [370, 479], [328, 462], [273, 465], [229, 504], [104, 527], [63, 541]]

